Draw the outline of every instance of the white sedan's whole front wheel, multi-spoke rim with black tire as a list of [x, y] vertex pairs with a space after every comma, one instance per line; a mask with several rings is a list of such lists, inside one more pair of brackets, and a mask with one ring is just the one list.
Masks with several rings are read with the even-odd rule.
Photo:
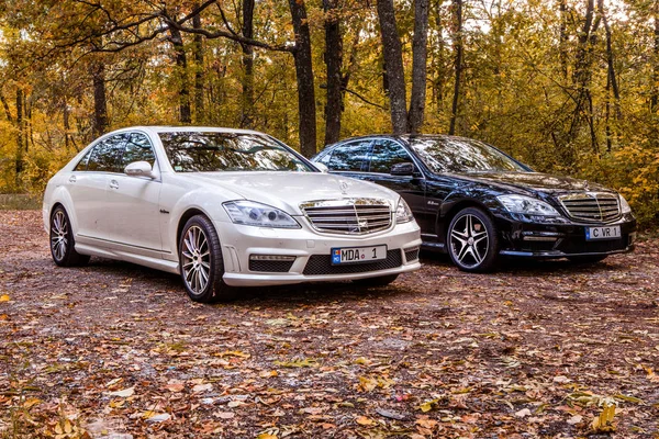
[[212, 303], [235, 299], [236, 289], [222, 280], [222, 247], [209, 218], [196, 215], [188, 219], [178, 248], [181, 279], [191, 300]]

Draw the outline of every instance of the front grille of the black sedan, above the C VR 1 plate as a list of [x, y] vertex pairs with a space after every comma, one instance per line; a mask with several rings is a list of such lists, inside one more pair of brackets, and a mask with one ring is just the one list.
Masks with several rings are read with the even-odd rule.
[[617, 195], [604, 192], [583, 192], [559, 196], [563, 207], [574, 219], [610, 222], [621, 217]]

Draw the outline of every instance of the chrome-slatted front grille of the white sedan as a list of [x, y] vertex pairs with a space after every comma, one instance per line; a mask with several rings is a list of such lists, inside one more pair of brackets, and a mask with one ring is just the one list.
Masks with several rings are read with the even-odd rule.
[[384, 200], [321, 200], [300, 205], [319, 232], [364, 235], [391, 226], [391, 207]]

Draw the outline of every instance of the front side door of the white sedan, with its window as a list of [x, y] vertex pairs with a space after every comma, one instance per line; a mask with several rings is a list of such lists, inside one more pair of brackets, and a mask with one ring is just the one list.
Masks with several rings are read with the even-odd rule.
[[[121, 155], [121, 171], [108, 182], [108, 239], [130, 246], [129, 251], [155, 256], [163, 250], [159, 225], [159, 199], [163, 187], [154, 147], [148, 136], [141, 132], [126, 135]], [[124, 173], [127, 165], [147, 161], [157, 178], [133, 177]]]

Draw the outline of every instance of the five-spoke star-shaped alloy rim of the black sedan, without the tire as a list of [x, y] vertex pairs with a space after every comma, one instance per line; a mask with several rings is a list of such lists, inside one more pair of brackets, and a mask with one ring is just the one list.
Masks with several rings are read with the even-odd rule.
[[450, 251], [465, 268], [480, 266], [488, 256], [490, 237], [483, 222], [476, 215], [465, 214], [450, 229]]

